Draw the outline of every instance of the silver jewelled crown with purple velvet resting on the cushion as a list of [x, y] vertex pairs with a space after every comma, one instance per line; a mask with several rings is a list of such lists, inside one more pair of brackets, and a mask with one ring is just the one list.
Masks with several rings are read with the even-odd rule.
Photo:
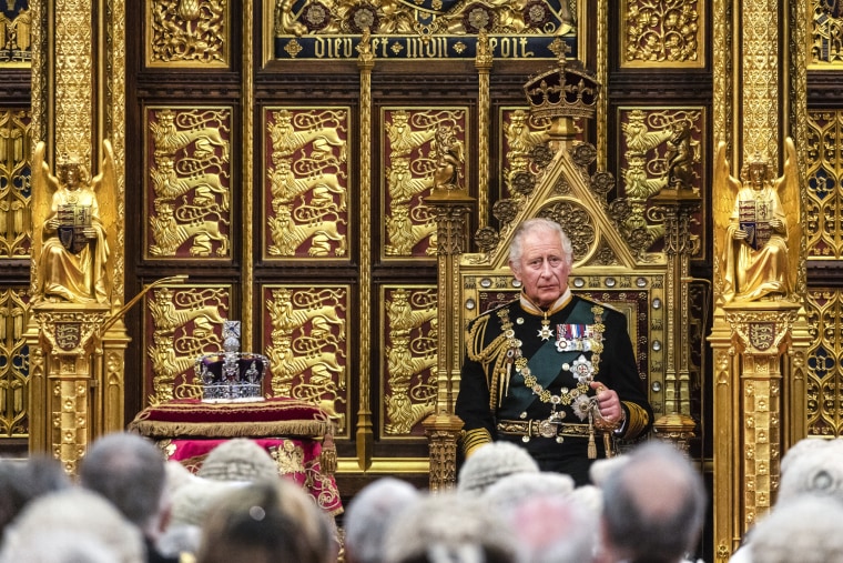
[[225, 321], [223, 351], [199, 356], [193, 366], [202, 384], [202, 401], [263, 401], [263, 379], [270, 360], [238, 350], [240, 321]]

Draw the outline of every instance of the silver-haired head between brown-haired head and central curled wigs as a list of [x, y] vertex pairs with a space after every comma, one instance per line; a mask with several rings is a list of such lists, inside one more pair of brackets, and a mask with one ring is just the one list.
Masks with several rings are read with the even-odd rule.
[[363, 487], [345, 511], [345, 561], [380, 563], [388, 526], [420, 497], [415, 486], [395, 477], [382, 477]]

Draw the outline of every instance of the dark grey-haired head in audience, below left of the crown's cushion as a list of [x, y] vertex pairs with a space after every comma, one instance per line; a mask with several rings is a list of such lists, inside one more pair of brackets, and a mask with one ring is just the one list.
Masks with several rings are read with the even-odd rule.
[[88, 449], [79, 468], [79, 482], [116, 506], [153, 549], [170, 514], [164, 463], [163, 453], [149, 440], [115, 432]]

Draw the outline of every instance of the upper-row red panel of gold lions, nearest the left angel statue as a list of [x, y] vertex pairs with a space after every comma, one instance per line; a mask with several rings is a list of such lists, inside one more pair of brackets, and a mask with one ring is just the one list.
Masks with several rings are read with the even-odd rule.
[[146, 108], [146, 259], [231, 259], [231, 108]]

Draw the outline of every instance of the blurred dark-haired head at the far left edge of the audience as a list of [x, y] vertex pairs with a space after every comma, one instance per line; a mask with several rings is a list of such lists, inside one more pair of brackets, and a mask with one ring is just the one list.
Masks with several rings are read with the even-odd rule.
[[71, 485], [61, 463], [48, 455], [27, 460], [0, 459], [0, 536], [33, 499]]

